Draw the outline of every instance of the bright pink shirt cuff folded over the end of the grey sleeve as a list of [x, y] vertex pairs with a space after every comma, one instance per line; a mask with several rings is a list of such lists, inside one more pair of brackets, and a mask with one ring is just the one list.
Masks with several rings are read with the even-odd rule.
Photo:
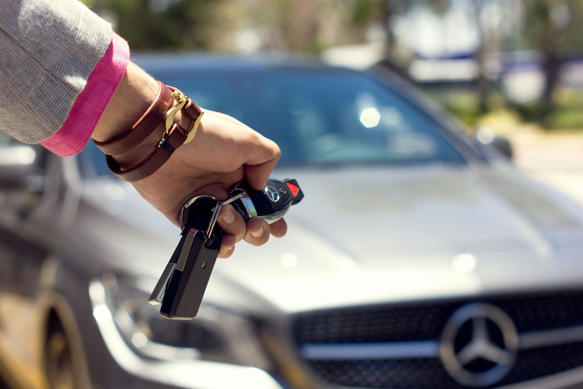
[[109, 47], [87, 78], [85, 89], [75, 99], [62, 127], [40, 144], [63, 157], [80, 152], [120, 85], [128, 61], [128, 43], [113, 33]]

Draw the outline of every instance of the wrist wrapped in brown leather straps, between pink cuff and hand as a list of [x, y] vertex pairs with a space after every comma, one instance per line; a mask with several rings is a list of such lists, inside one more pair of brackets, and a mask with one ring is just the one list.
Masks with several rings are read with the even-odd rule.
[[133, 64], [114, 97], [92, 137], [107, 154], [110, 170], [129, 182], [160, 169], [175, 149], [194, 138], [202, 117], [201, 109], [180, 90]]

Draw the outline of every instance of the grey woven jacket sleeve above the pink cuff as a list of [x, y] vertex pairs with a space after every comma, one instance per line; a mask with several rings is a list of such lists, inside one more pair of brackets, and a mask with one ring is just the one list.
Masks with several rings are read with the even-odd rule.
[[77, 0], [0, 0], [0, 129], [38, 143], [61, 128], [111, 25]]

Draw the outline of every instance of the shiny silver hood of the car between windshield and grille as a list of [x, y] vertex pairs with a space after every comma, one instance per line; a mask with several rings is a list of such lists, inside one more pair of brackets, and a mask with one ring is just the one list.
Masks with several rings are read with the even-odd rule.
[[[257, 309], [296, 311], [564, 286], [583, 276], [581, 209], [514, 169], [434, 165], [275, 175], [297, 178], [305, 193], [286, 217], [289, 233], [262, 247], [238, 244], [231, 258], [217, 261], [209, 295], [233, 289], [233, 303], [261, 300]], [[94, 205], [108, 205], [110, 216], [125, 220], [92, 234], [108, 235], [109, 246], [116, 231], [132, 235], [113, 250], [127, 253], [117, 264], [158, 276], [177, 228], [131, 187], [118, 186], [124, 195], [116, 189], [119, 198], [111, 201], [111, 188], [87, 185]]]

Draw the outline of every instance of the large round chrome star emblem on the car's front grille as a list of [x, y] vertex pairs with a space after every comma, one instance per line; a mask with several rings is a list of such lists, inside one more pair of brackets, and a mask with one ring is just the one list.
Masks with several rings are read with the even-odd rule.
[[489, 386], [512, 368], [518, 335], [510, 317], [498, 307], [472, 303], [452, 314], [441, 335], [440, 356], [458, 383]]

